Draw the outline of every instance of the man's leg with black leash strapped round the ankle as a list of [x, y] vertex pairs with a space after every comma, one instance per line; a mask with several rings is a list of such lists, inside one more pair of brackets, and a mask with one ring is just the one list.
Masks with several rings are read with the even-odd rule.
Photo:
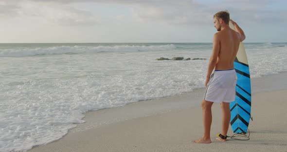
[[[229, 107], [229, 103], [228, 102], [222, 102], [221, 103], [221, 109], [222, 109], [222, 132], [221, 134], [223, 136], [227, 135], [227, 131], [229, 128], [229, 123], [230, 123], [230, 107]], [[216, 138], [217, 140], [220, 141], [226, 141], [226, 139], [222, 139], [222, 138]]]

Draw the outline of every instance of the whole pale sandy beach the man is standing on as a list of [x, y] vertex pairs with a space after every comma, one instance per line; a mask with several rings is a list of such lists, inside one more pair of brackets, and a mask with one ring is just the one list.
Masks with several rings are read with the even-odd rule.
[[[229, 139], [227, 142], [219, 142], [215, 140], [216, 134], [221, 131], [221, 110], [219, 104], [214, 104], [211, 128], [213, 143], [193, 143], [193, 140], [201, 137], [203, 133], [199, 100], [200, 92], [203, 90], [198, 89], [192, 94], [154, 100], [153, 104], [151, 100], [147, 100], [124, 107], [88, 112], [84, 118], [86, 123], [79, 124], [60, 140], [36, 146], [28, 152], [287, 152], [287, 111], [285, 108], [287, 90], [278, 85], [277, 89], [272, 89], [274, 83], [269, 79], [276, 78], [276, 76], [286, 76], [286, 74], [253, 80], [252, 87], [255, 90], [251, 110], [253, 121], [250, 122], [250, 140], [247, 141]], [[262, 83], [263, 80], [265, 83]], [[262, 85], [258, 85], [261, 83]], [[260, 90], [264, 85], [269, 85], [269, 91]], [[192, 105], [191, 98], [198, 100], [197, 105], [187, 106]], [[175, 100], [183, 107], [179, 106], [173, 110], [162, 110], [153, 114], [149, 112], [149, 115], [147, 113], [137, 115], [153, 107], [156, 109], [163, 102], [171, 105], [175, 103]], [[138, 109], [138, 113], [135, 109]], [[91, 125], [93, 121], [100, 121], [99, 118], [104, 115], [106, 119], [108, 114], [110, 118], [116, 119], [118, 114], [125, 112], [129, 113], [126, 115], [126, 120], [103, 123], [98, 126]], [[231, 127], [228, 135], [233, 135]]]

